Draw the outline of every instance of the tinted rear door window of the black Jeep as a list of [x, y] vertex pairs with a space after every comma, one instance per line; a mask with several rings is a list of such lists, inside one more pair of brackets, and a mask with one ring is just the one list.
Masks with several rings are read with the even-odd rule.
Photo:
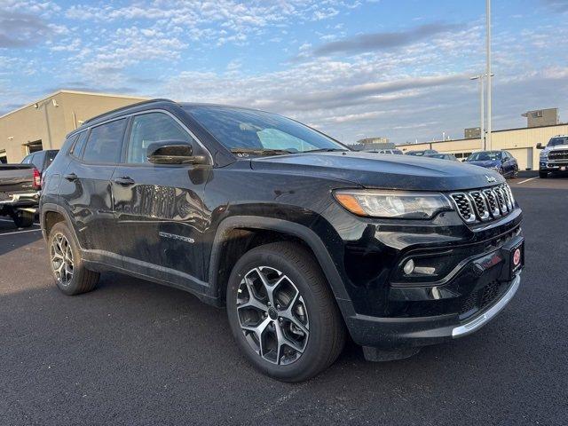
[[126, 119], [93, 127], [83, 153], [85, 162], [119, 162]]

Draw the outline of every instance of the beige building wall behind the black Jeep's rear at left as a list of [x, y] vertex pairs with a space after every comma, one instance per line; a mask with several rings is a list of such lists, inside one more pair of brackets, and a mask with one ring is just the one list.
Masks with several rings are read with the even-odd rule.
[[0, 157], [20, 162], [30, 143], [41, 141], [43, 149], [58, 149], [67, 133], [91, 117], [145, 100], [81, 91], [57, 91], [46, 98], [0, 116]]

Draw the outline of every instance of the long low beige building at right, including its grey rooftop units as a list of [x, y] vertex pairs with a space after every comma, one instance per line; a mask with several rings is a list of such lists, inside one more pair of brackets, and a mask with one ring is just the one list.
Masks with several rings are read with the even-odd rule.
[[[495, 130], [491, 132], [491, 146], [487, 149], [507, 150], [518, 162], [519, 170], [539, 169], [540, 142], [546, 145], [550, 138], [568, 134], [568, 123], [559, 123], [556, 108], [529, 111], [523, 114], [527, 118], [527, 127], [519, 129]], [[419, 144], [399, 145], [404, 153], [414, 150], [435, 149], [438, 153], [454, 154], [459, 159], [483, 149], [479, 128], [466, 129], [464, 138], [452, 140], [434, 140]]]

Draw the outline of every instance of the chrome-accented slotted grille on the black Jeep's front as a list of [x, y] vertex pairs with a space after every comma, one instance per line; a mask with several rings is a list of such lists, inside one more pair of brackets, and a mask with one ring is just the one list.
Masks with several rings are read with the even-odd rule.
[[515, 209], [515, 199], [507, 184], [450, 194], [461, 218], [467, 224], [505, 216]]

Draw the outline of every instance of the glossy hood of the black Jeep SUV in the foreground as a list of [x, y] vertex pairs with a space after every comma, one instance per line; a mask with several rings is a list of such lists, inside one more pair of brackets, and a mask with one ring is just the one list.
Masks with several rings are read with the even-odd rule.
[[353, 151], [258, 157], [250, 165], [253, 170], [334, 178], [368, 188], [455, 191], [504, 182], [498, 173], [461, 162]]

